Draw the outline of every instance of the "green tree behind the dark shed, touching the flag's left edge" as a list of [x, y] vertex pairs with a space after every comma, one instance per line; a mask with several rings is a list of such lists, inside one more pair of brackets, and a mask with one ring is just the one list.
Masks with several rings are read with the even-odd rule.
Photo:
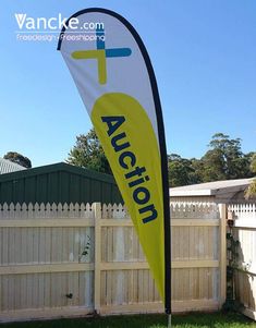
[[76, 137], [76, 143], [70, 150], [66, 161], [77, 167], [112, 174], [103, 148], [94, 129], [86, 135], [81, 134]]

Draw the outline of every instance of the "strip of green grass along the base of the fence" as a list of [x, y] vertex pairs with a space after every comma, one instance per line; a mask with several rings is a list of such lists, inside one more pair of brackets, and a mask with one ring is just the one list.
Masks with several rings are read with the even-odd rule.
[[[166, 315], [127, 315], [0, 324], [0, 328], [167, 328]], [[256, 328], [256, 323], [237, 313], [175, 315], [173, 328]]]

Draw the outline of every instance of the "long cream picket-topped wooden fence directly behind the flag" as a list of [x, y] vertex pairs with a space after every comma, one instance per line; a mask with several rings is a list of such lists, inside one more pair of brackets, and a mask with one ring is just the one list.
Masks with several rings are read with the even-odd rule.
[[[173, 312], [225, 299], [225, 206], [171, 206]], [[0, 207], [0, 320], [162, 312], [120, 205]]]

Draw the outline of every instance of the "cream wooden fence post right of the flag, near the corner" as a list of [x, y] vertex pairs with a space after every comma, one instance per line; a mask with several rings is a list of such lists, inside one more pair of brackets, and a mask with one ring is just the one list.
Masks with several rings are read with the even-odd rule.
[[220, 212], [220, 307], [227, 296], [227, 205], [219, 204]]

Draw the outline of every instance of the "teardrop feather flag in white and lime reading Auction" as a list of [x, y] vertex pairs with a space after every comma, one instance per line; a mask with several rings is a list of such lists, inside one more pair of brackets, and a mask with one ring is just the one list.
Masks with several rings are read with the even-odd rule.
[[[92, 22], [96, 27], [93, 32], [88, 31]], [[93, 121], [169, 314], [167, 150], [147, 50], [125, 19], [97, 8], [82, 10], [68, 20], [58, 50]]]

